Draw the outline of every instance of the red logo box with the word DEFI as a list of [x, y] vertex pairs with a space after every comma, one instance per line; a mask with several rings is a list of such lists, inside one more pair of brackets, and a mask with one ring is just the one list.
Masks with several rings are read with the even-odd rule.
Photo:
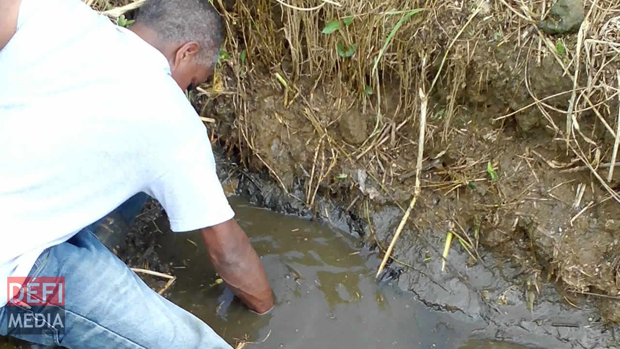
[[64, 307], [65, 291], [63, 276], [9, 276], [7, 306]]

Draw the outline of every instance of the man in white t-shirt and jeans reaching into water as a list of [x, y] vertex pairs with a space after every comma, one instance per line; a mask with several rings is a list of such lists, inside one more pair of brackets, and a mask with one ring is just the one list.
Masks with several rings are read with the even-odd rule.
[[[139, 193], [162, 204], [175, 232], [201, 230], [251, 310], [272, 308], [184, 94], [213, 73], [222, 35], [207, 0], [148, 0], [129, 30], [79, 0], [0, 0], [1, 335], [68, 348], [229, 348], [95, 237], [93, 223], [116, 207], [130, 222]], [[65, 278], [63, 329], [12, 329], [7, 314], [40, 310], [5, 306], [15, 276]]]

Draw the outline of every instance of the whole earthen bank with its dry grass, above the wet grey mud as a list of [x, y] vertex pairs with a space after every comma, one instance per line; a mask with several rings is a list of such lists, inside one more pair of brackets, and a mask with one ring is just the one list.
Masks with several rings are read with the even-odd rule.
[[[421, 195], [395, 258], [435, 263], [454, 229], [474, 247], [469, 264], [484, 249], [518, 265], [529, 309], [552, 281], [566, 304], [590, 298], [620, 319], [618, 171], [607, 178], [619, 66], [607, 43], [617, 42], [619, 4], [340, 4], [221, 4], [230, 55], [200, 107], [215, 137], [301, 212], [327, 219], [317, 197], [345, 209], [378, 248], [409, 204], [423, 148]], [[391, 32], [392, 7], [425, 11]], [[582, 22], [587, 43], [575, 34]], [[337, 55], [348, 44], [356, 51]]]

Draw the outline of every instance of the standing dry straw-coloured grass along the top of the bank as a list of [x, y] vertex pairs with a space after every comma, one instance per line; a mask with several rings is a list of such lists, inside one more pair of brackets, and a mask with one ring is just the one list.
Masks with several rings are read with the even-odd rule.
[[[512, 45], [519, 53], [518, 63], [525, 67], [521, 73], [526, 86], [531, 86], [528, 66], [531, 70], [531, 65], [536, 65], [545, 56], [554, 57], [565, 75], [573, 79], [573, 89], [564, 93], [570, 97], [564, 110], [546, 102], [552, 97], [536, 95], [528, 87], [533, 103], [518, 112], [538, 108], [549, 121], [548, 127], [556, 132], [556, 137], [550, 137], [549, 142], [564, 139], [575, 158], [591, 167], [595, 177], [600, 178], [600, 184], [608, 190], [609, 196], [620, 201], [620, 196], [603, 179], [608, 173], [599, 173], [602, 170], [600, 164], [615, 162], [612, 148], [616, 131], [611, 125], [617, 125], [615, 69], [620, 44], [614, 37], [619, 21], [613, 16], [620, 9], [618, 1], [587, 3], [587, 16], [580, 34], [563, 38], [567, 54], [562, 57], [554, 43], [556, 38], [543, 34], [536, 27], [538, 20], [548, 15], [550, 1], [508, 4], [500, 0], [489, 4], [484, 1], [258, 0], [237, 1], [228, 10], [222, 0], [216, 2], [228, 19], [229, 38], [239, 38], [228, 42], [229, 66], [236, 75], [236, 86], [226, 87], [236, 93], [234, 104], [239, 114], [239, 139], [252, 153], [259, 155], [260, 150], [254, 147], [254, 141], [262, 135], [255, 134], [247, 122], [245, 113], [251, 97], [246, 91], [251, 88], [249, 84], [259, 81], [272, 86], [279, 84], [277, 79], [265, 78], [268, 76], [265, 71], [277, 73], [288, 81], [284, 93], [285, 107], [296, 103], [307, 110], [307, 117], [316, 128], [314, 144], [320, 138], [329, 146], [329, 151], [334, 153], [334, 156], [328, 153], [331, 160], [337, 157], [339, 161], [349, 163], [361, 161], [368, 167], [389, 171], [389, 163], [386, 163], [392, 158], [389, 153], [415, 144], [409, 138], [403, 138], [411, 135], [403, 134], [402, 130], [417, 124], [420, 101], [415, 91], [424, 85], [430, 86], [427, 87], [428, 94], [434, 102], [429, 106], [430, 114], [436, 112], [433, 107], [438, 104], [446, 106], [446, 116], [440, 122], [429, 123], [427, 142], [436, 142], [435, 133], [440, 132], [437, 135], [441, 135], [441, 142], [448, 147], [450, 135], [454, 132], [451, 120], [458, 109], [457, 96], [466, 82], [473, 51], [492, 41], [488, 35], [482, 34], [491, 28], [504, 38], [498, 46]], [[422, 11], [403, 21], [414, 9]], [[343, 24], [347, 17], [353, 18], [348, 26]], [[325, 24], [332, 20], [340, 20], [340, 30], [322, 34]], [[355, 44], [355, 54], [350, 58], [339, 58], [336, 49], [339, 43], [345, 47]], [[239, 64], [242, 54], [247, 57], [243, 65]], [[426, 66], [422, 66], [424, 57], [428, 61]], [[422, 70], [428, 73], [422, 75]], [[484, 85], [484, 73], [480, 73], [479, 80], [480, 85]], [[332, 87], [329, 95], [337, 109], [345, 110], [352, 103], [359, 104], [363, 114], [375, 116], [373, 132], [361, 146], [337, 144], [330, 139], [334, 138], [330, 137], [333, 132], [328, 130], [337, 119], [317, 115], [311, 96], [317, 86], [320, 89], [327, 83]], [[372, 95], [365, 93], [366, 86], [370, 86]], [[386, 91], [397, 96], [396, 101], [386, 98]], [[565, 127], [560, 127], [557, 117], [552, 117], [554, 112], [565, 114]], [[509, 111], [505, 117], [516, 113]], [[584, 131], [581, 124], [590, 123], [587, 119], [590, 113], [594, 113], [599, 123], [588, 124], [588, 130]], [[496, 120], [505, 117], [500, 115]], [[586, 135], [586, 132], [590, 134]], [[611, 135], [612, 140], [603, 133]], [[264, 159], [261, 161], [278, 178], [274, 164]], [[316, 159], [312, 166], [321, 167]], [[318, 176], [327, 178], [326, 173]], [[381, 183], [389, 184], [389, 177], [391, 175], [381, 178]], [[313, 192], [316, 191], [309, 192], [309, 195], [312, 196]], [[314, 199], [307, 198], [306, 201], [314, 202]]]

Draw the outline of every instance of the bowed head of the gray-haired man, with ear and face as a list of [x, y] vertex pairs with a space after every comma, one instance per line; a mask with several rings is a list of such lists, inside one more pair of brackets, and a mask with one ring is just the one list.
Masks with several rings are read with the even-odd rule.
[[181, 89], [213, 74], [223, 32], [208, 0], [147, 0], [131, 30], [166, 56]]

